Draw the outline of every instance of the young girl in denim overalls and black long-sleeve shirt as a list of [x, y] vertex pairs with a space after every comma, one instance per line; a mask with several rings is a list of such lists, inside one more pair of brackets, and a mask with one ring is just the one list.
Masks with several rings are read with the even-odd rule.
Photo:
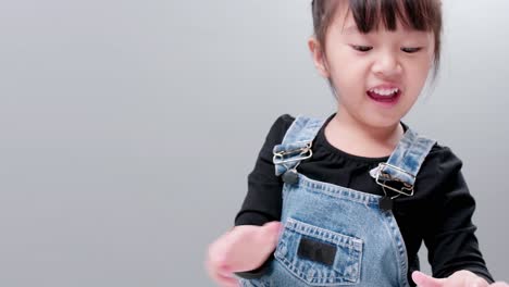
[[[309, 48], [337, 113], [273, 124], [236, 227], [209, 248], [210, 276], [221, 286], [488, 286], [461, 161], [400, 122], [438, 67], [440, 1], [314, 0], [312, 13]], [[417, 272], [423, 240], [433, 277]]]

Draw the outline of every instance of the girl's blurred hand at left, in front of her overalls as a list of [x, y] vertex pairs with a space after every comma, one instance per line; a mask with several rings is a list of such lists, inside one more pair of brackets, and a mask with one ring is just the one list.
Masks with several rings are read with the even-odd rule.
[[239, 225], [209, 246], [206, 267], [212, 279], [223, 287], [238, 286], [234, 272], [254, 270], [274, 251], [282, 225]]

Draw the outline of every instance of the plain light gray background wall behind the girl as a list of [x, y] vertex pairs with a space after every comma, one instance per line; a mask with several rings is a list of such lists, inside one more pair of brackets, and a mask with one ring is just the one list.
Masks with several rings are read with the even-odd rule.
[[[309, 2], [2, 1], [0, 286], [212, 286], [270, 125], [334, 110]], [[439, 80], [406, 121], [464, 161], [508, 280], [509, 1], [444, 9]]]

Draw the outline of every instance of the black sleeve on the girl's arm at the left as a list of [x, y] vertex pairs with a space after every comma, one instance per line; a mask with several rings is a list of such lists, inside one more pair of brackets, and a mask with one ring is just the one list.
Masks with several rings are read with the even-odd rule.
[[[294, 117], [285, 114], [280, 116], [266, 135], [265, 142], [258, 155], [253, 171], [248, 176], [248, 191], [243, 207], [235, 217], [235, 225], [263, 225], [271, 221], [280, 221], [282, 210], [281, 177], [275, 175], [272, 162], [272, 150], [280, 145], [294, 122]], [[238, 272], [244, 278], [257, 278], [264, 274], [271, 255], [260, 267], [249, 272]]]

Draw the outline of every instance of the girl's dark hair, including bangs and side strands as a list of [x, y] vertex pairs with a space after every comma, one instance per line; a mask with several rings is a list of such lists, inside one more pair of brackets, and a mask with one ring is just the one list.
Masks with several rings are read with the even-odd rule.
[[[342, 0], [313, 0], [314, 35], [325, 47], [325, 35]], [[433, 32], [435, 36], [435, 73], [440, 61], [442, 2], [440, 0], [349, 0], [349, 10], [361, 33], [370, 33], [383, 24], [396, 30], [396, 20], [407, 28]], [[323, 48], [324, 49], [324, 48]]]

